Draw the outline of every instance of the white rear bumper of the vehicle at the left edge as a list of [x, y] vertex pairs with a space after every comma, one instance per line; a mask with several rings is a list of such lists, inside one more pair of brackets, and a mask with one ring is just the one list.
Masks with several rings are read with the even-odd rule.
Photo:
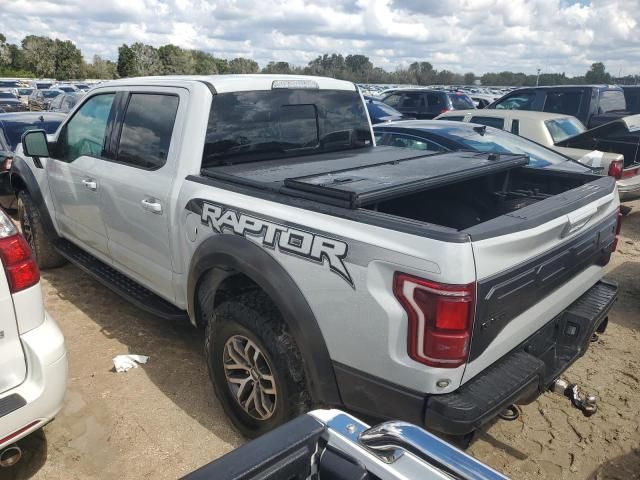
[[67, 353], [56, 322], [45, 314], [36, 328], [21, 335], [28, 375], [16, 388], [0, 397], [0, 449], [50, 422], [62, 408], [67, 386]]

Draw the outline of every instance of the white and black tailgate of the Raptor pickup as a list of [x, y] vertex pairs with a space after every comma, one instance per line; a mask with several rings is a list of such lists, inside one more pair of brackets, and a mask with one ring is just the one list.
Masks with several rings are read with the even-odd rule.
[[468, 230], [477, 303], [463, 382], [542, 328], [602, 277], [619, 210], [613, 182], [601, 178]]

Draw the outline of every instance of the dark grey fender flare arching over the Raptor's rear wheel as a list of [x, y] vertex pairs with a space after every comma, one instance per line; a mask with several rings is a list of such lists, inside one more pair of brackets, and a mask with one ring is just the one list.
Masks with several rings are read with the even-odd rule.
[[[220, 234], [198, 246], [188, 274], [189, 316], [196, 318], [200, 280], [208, 272], [220, 270], [246, 275], [269, 295], [300, 349], [313, 400], [340, 405], [333, 363], [311, 307], [282, 265], [258, 245], [243, 237]], [[225, 274], [217, 275], [214, 285], [220, 285], [224, 278]]]

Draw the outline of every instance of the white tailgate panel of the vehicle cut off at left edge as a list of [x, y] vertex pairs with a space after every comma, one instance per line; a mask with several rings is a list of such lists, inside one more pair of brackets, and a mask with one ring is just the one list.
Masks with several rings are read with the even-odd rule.
[[0, 395], [22, 383], [27, 374], [9, 286], [0, 268]]

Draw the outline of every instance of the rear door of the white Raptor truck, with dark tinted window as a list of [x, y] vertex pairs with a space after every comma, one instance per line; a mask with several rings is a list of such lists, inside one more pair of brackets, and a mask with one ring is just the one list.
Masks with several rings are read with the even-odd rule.
[[123, 273], [173, 300], [168, 210], [179, 145], [172, 136], [187, 92], [137, 87], [121, 95], [113, 159], [101, 162], [96, 172], [111, 259]]

